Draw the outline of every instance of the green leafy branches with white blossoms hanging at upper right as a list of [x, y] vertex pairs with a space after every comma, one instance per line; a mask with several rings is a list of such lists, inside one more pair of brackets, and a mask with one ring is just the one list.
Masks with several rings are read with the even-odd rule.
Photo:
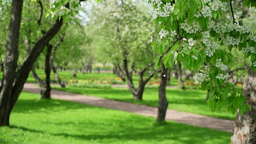
[[[210, 90], [208, 99], [210, 111], [220, 111], [223, 104], [232, 114], [235, 114], [238, 108], [239, 114], [250, 110], [250, 105], [242, 92], [230, 82], [225, 82], [229, 77], [226, 71], [233, 62], [230, 52], [234, 49], [243, 52], [246, 58], [250, 57], [249, 71], [256, 70], [256, 37], [250, 32], [249, 25], [242, 24], [241, 20], [235, 18], [233, 6], [239, 2], [232, 0], [149, 0], [149, 2], [154, 6], [155, 24], [152, 29], [156, 31], [156, 35], [154, 41], [152, 38], [152, 48], [158, 54], [156, 68], [160, 66], [162, 59], [166, 68], [172, 67], [181, 60], [186, 69], [196, 72], [194, 80], [198, 88], [201, 84], [202, 90]], [[254, 7], [255, 4], [256, 2], [252, 0], [244, 1], [244, 5], [248, 8]], [[242, 17], [246, 16], [244, 8], [242, 7]], [[222, 18], [223, 11], [226, 10], [231, 15], [231, 19]], [[219, 48], [218, 45], [224, 47]], [[248, 77], [252, 76], [248, 75]], [[247, 79], [253, 79], [248, 77]], [[249, 90], [248, 93], [253, 92], [250, 88], [245, 90]], [[248, 94], [244, 91], [243, 93]], [[239, 142], [239, 135], [233, 138], [233, 142]], [[256, 143], [252, 135], [246, 139], [248, 139], [246, 142]]]

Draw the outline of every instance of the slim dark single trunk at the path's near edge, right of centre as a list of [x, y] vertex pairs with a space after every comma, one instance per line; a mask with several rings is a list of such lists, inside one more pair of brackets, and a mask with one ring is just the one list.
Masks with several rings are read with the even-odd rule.
[[168, 101], [166, 100], [166, 84], [167, 84], [167, 71], [162, 64], [161, 76], [160, 76], [160, 86], [158, 90], [158, 113], [156, 122], [162, 122], [165, 120], [166, 110], [168, 107]]

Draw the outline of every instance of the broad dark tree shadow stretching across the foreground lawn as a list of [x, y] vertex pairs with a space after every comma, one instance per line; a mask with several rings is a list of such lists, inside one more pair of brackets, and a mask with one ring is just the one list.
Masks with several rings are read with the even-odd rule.
[[[18, 128], [23, 131], [33, 133], [47, 133], [53, 136], [72, 137], [80, 140], [175, 140], [179, 143], [187, 144], [201, 144], [211, 138], [223, 139], [228, 135], [226, 132], [216, 130], [209, 130], [205, 128], [198, 128], [194, 126], [187, 126], [186, 124], [178, 124], [174, 122], [167, 122], [165, 124], [152, 124], [143, 117], [131, 116], [126, 120], [109, 119], [108, 122], [99, 123], [93, 120], [86, 120], [84, 122], [46, 122], [55, 126], [72, 125], [74, 128], [79, 128], [80, 131], [102, 131], [104, 133], [90, 132], [85, 134], [69, 134], [68, 132], [49, 133], [43, 130], [34, 130], [23, 126], [11, 126], [11, 128]], [[104, 124], [104, 126], [102, 126]], [[143, 126], [148, 124], [148, 126]], [[139, 127], [138, 127], [139, 126]], [[140, 127], [143, 126], [143, 127]], [[97, 129], [99, 128], [99, 129]]]

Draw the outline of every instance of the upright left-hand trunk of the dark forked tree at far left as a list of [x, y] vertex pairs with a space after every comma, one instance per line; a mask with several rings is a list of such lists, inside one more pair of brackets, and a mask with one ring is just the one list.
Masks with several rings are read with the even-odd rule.
[[4, 58], [4, 76], [0, 92], [0, 126], [9, 126], [12, 110], [13, 82], [16, 77], [18, 61], [18, 42], [23, 0], [12, 0], [6, 54]]

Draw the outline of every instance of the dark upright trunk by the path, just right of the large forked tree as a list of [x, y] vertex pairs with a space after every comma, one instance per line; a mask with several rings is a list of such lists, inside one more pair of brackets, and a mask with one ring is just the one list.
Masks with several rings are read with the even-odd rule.
[[52, 53], [52, 45], [48, 44], [47, 45], [47, 52], [45, 56], [45, 69], [44, 72], [46, 74], [45, 78], [45, 85], [41, 89], [41, 99], [43, 98], [51, 98], [51, 86], [50, 86], [50, 75], [51, 75], [51, 64], [50, 64], [50, 58], [51, 58], [51, 53]]

